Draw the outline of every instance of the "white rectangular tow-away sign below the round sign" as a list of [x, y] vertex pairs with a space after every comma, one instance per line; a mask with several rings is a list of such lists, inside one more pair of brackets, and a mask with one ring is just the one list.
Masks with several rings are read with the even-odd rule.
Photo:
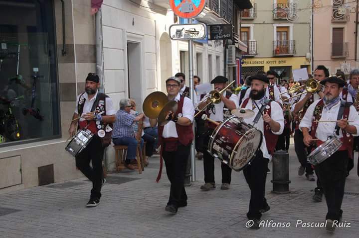
[[173, 40], [197, 40], [206, 36], [206, 25], [198, 24], [175, 24], [170, 26], [170, 37]]

